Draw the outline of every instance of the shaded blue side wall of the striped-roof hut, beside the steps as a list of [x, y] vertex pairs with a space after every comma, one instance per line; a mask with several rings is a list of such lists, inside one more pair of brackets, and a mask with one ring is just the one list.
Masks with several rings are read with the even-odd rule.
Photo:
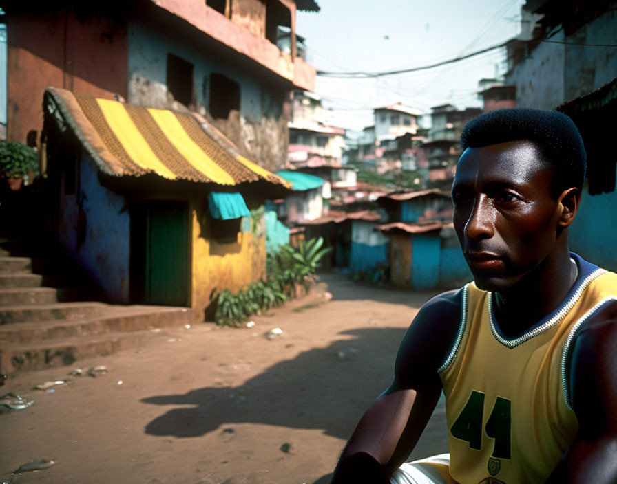
[[92, 160], [78, 162], [79, 190], [64, 195], [61, 181], [61, 247], [90, 274], [113, 303], [129, 303], [130, 217], [125, 199], [98, 183]]

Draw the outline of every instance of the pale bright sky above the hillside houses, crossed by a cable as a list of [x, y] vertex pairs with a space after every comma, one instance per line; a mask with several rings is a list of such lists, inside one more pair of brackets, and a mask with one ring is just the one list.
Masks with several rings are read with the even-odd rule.
[[[306, 61], [328, 72], [386, 72], [429, 65], [497, 45], [520, 32], [525, 0], [317, 0], [298, 12]], [[362, 130], [373, 108], [402, 102], [422, 113], [454, 104], [479, 107], [478, 81], [505, 72], [505, 49], [408, 74], [369, 79], [317, 76], [315, 92], [332, 109], [330, 124]]]

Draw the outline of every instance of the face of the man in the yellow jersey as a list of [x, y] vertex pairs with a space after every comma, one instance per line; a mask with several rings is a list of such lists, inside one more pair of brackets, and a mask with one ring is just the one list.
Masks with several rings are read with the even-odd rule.
[[467, 148], [461, 156], [452, 185], [454, 229], [480, 289], [512, 287], [554, 248], [551, 180], [532, 142]]

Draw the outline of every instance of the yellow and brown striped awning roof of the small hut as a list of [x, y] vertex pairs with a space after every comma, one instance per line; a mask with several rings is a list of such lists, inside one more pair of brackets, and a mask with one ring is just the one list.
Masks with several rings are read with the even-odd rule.
[[265, 180], [291, 188], [288, 181], [249, 159], [224, 149], [191, 115], [133, 106], [48, 87], [43, 109], [61, 129], [69, 126], [107, 175], [156, 173], [233, 186]]

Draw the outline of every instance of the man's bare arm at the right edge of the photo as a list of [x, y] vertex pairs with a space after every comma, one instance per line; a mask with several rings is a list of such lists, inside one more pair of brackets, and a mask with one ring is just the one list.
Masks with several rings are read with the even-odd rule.
[[616, 305], [602, 312], [574, 342], [570, 395], [579, 428], [550, 484], [617, 483]]

